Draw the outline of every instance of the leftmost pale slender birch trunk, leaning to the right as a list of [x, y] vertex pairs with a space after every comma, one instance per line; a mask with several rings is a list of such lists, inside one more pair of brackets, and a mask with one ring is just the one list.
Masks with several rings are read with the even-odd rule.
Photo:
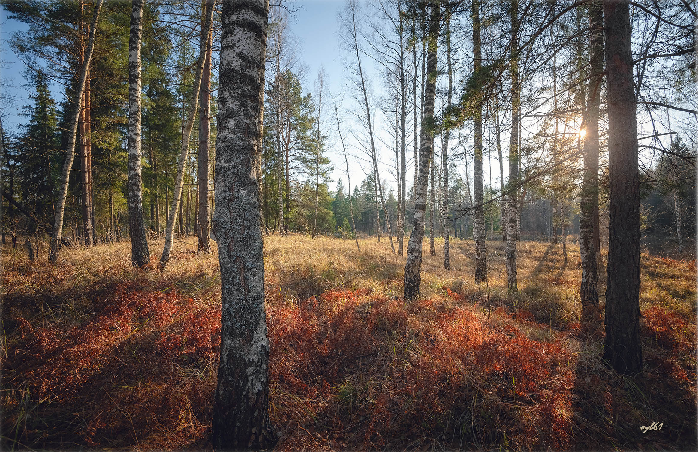
[[80, 116], [80, 110], [82, 110], [82, 93], [84, 92], [85, 80], [87, 80], [87, 73], [89, 71], [89, 63], [92, 59], [92, 52], [94, 51], [94, 36], [97, 32], [97, 24], [99, 20], [99, 13], [102, 9], [102, 3], [104, 3], [104, 0], [97, 0], [97, 4], [94, 8], [94, 15], [92, 16], [92, 22], [90, 24], [87, 50], [85, 51], [82, 67], [80, 68], [80, 77], [77, 81], [75, 104], [73, 105], [73, 112], [71, 116], [69, 116], [68, 121], [68, 146], [66, 146], [66, 160], [63, 163], [63, 169], [61, 169], [61, 183], [58, 189], [59, 195], [58, 202], [56, 204], [56, 218], [53, 225], [51, 247], [49, 250], [49, 260], [51, 262], [57, 262], [60, 257], [59, 250], [61, 247], [61, 234], [63, 232], [63, 214], [66, 209], [66, 197], [68, 196], [68, 180], [70, 179], [70, 168], [73, 167], [73, 159], [75, 158], [77, 118]]

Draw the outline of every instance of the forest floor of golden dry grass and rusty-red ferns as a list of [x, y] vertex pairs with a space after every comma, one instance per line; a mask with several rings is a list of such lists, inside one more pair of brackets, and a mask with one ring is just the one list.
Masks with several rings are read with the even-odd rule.
[[[516, 295], [501, 241], [478, 287], [473, 241], [451, 241], [444, 271], [426, 240], [410, 303], [404, 257], [359, 242], [265, 239], [277, 450], [697, 448], [695, 260], [642, 255], [645, 369], [623, 377], [602, 323], [579, 323], [571, 238], [567, 262], [519, 243]], [[128, 242], [64, 250], [54, 267], [4, 248], [2, 449], [212, 449], [216, 255], [176, 241], [161, 272], [133, 269]]]

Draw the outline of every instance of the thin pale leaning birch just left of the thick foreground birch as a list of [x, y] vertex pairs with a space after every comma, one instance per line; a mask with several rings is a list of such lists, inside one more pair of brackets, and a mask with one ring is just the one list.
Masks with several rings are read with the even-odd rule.
[[[205, 11], [205, 17], [202, 21], [201, 27], [206, 31], [205, 33], [202, 33], [202, 36], [208, 36], [209, 33], [211, 33], [213, 15], [214, 8], [208, 8]], [[177, 176], [174, 178], [172, 205], [170, 206], [170, 213], [168, 213], [168, 223], [165, 227], [165, 246], [163, 247], [163, 255], [160, 257], [161, 268], [167, 265], [168, 261], [170, 260], [170, 253], [172, 252], [172, 242], [174, 241], [174, 223], [177, 220], [177, 210], [179, 209], [181, 203], [182, 185], [184, 183], [184, 164], [186, 163], [186, 156], [189, 152], [189, 137], [191, 137], [191, 130], [194, 127], [196, 110], [199, 103], [199, 91], [201, 89], [201, 80], [204, 73], [204, 63], [206, 61], [208, 47], [207, 42], [202, 42], [201, 44], [202, 45], [199, 46], [199, 61], [196, 65], [196, 75], [194, 77], [194, 96], [191, 99], [191, 105], [189, 106], [189, 117], [186, 121], [186, 126], [184, 126], [184, 129], [182, 130], [181, 153], [179, 153]]]

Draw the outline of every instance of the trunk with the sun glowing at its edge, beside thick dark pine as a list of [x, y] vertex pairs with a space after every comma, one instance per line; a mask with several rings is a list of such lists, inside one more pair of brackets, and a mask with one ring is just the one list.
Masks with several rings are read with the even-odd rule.
[[581, 184], [579, 220], [579, 256], [581, 258], [581, 301], [582, 319], [589, 320], [597, 315], [599, 308], [598, 265], [599, 250], [594, 243], [594, 208], [599, 205], [599, 85], [603, 72], [603, 8], [600, 2], [589, 6], [589, 29], [591, 30], [591, 78], [588, 84], [588, 107], [584, 129], [584, 176]]

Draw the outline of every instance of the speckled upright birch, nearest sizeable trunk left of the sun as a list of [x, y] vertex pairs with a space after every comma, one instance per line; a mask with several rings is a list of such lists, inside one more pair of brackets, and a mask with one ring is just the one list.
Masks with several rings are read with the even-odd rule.
[[509, 183], [507, 187], [507, 289], [517, 291], [517, 201], [519, 169], [519, 19], [518, 0], [512, 0], [512, 60], [510, 73], [512, 77], [512, 132], [509, 140]]

